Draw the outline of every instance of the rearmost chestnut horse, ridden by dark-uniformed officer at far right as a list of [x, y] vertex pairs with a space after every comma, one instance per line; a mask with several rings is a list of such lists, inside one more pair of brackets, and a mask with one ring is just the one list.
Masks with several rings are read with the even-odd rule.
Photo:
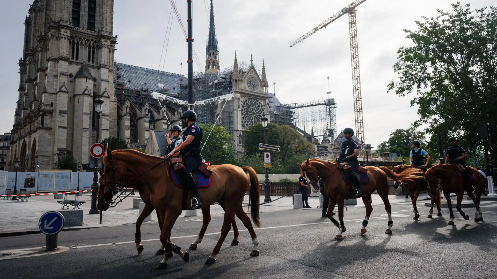
[[461, 213], [465, 220], [469, 220], [468, 214], [465, 214], [461, 209], [461, 202], [465, 191], [476, 205], [475, 222], [478, 223], [483, 221], [482, 210], [480, 210], [480, 197], [485, 189], [485, 184], [483, 183], [483, 178], [480, 172], [478, 172], [476, 168], [470, 166], [468, 166], [468, 168], [471, 168], [474, 172], [473, 174], [475, 179], [472, 180], [472, 184], [473, 187], [475, 187], [476, 197], [473, 195], [473, 192], [471, 192], [468, 186], [464, 186], [463, 179], [459, 176], [453, 164], [436, 164], [429, 168], [424, 174], [424, 177], [428, 183], [430, 183], [430, 180], [433, 181], [433, 179], [438, 179], [438, 182], [440, 183], [438, 187], [442, 189], [443, 195], [445, 196], [445, 199], [447, 199], [447, 207], [450, 212], [450, 221], [448, 222], [449, 225], [454, 225], [454, 212], [452, 211], [450, 193], [454, 193], [457, 196], [457, 211]]

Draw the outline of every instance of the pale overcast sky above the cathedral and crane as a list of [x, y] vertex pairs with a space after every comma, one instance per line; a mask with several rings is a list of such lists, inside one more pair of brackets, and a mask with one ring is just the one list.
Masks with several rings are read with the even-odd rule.
[[[282, 103], [327, 98], [331, 90], [337, 103], [339, 131], [355, 129], [348, 16], [342, 16], [290, 48], [290, 43], [312, 30], [352, 0], [214, 0], [216, 33], [221, 68], [250, 61], [259, 69], [265, 61], [269, 91], [276, 82]], [[0, 133], [9, 132], [14, 120], [22, 57], [24, 18], [33, 0], [0, 0]], [[205, 63], [210, 0], [193, 1], [193, 38], [197, 55]], [[366, 143], [378, 146], [395, 129], [409, 128], [417, 119], [413, 96], [387, 93], [387, 83], [396, 78], [392, 66], [397, 50], [408, 46], [403, 29], [414, 29], [414, 20], [436, 16], [456, 0], [368, 0], [357, 7], [357, 33]], [[471, 2], [472, 9], [490, 6], [494, 0]], [[186, 1], [176, 6], [186, 26]], [[170, 14], [168, 0], [115, 0], [114, 34], [118, 35], [116, 58], [121, 63], [158, 69]], [[172, 24], [172, 25], [170, 25]], [[174, 15], [169, 20], [164, 70], [186, 74], [187, 44]], [[164, 61], [164, 55], [163, 55]], [[180, 69], [183, 62], [183, 69]], [[163, 69], [163, 64], [160, 66]], [[197, 67], [194, 66], [194, 70]], [[330, 76], [330, 88], [328, 79]]]

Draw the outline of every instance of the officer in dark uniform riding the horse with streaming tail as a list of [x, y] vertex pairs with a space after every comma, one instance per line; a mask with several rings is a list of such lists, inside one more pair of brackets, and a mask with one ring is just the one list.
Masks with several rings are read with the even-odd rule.
[[355, 171], [359, 167], [359, 161], [357, 160], [357, 156], [359, 156], [359, 143], [352, 139], [354, 135], [354, 130], [351, 128], [343, 129], [343, 136], [345, 137], [345, 141], [342, 143], [340, 157], [338, 158], [339, 163], [347, 162], [352, 168], [347, 171], [350, 180], [354, 183], [354, 197], [359, 196], [362, 193], [362, 190], [359, 186], [359, 180], [355, 175]]

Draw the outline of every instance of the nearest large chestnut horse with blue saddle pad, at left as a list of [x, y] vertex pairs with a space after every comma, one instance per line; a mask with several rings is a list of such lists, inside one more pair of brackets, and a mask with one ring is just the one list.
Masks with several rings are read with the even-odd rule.
[[[159, 239], [166, 251], [172, 251], [188, 262], [189, 255], [186, 251], [172, 244], [170, 239], [171, 229], [182, 210], [190, 210], [187, 201], [191, 200], [191, 193], [176, 187], [170, 177], [170, 160], [168, 158], [148, 155], [133, 149], [113, 150], [107, 149], [102, 159], [104, 168], [103, 186], [99, 187], [97, 208], [108, 209], [108, 202], [112, 200], [117, 185], [139, 179], [142, 183], [136, 183], [135, 189], [150, 197], [150, 203], [162, 220], [161, 235]], [[231, 229], [231, 223], [235, 214], [242, 220], [248, 229], [253, 242], [250, 256], [258, 256], [257, 236], [250, 222], [250, 218], [242, 207], [243, 199], [247, 189], [250, 187], [249, 204], [250, 216], [257, 227], [260, 227], [259, 219], [259, 181], [257, 174], [251, 167], [238, 167], [231, 164], [210, 166], [212, 170], [211, 185], [199, 188], [198, 192], [203, 201], [201, 209], [209, 208], [213, 203], [224, 200], [225, 214], [221, 229], [221, 236], [206, 264], [216, 261], [221, 246]], [[168, 253], [157, 269], [167, 267]]]

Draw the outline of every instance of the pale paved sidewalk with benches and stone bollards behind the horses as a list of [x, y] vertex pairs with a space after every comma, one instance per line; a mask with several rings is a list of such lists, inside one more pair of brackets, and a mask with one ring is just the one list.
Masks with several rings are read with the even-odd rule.
[[[99, 224], [100, 214], [88, 214], [91, 205], [91, 196], [83, 195], [80, 197], [80, 201], [86, 202], [83, 206], [80, 206], [80, 208], [83, 209], [83, 226], [68, 227], [64, 229], [83, 229], [133, 224], [139, 216], [139, 209], [133, 209], [134, 197], [140, 198], [139, 195], [129, 196], [116, 207], [104, 211], [102, 214], [102, 224]], [[423, 193], [419, 196], [418, 201], [421, 201], [427, 197], [428, 195]], [[272, 200], [277, 198], [280, 197], [271, 197]], [[74, 195], [72, 196], [72, 199], [74, 199]], [[389, 200], [391, 204], [405, 202], [411, 203], [411, 199], [405, 199], [404, 196], [389, 195]], [[57, 201], [62, 201], [62, 199], [55, 200], [54, 196], [34, 196], [29, 198], [28, 202], [25, 203], [0, 199], [0, 236], [38, 233], [38, 221], [41, 215], [47, 211], [61, 210], [62, 205], [57, 203]], [[260, 203], [263, 201], [264, 196], [260, 196]], [[373, 205], [383, 204], [383, 201], [378, 195], [372, 195], [372, 201]], [[248, 195], [245, 196], [244, 200], [244, 205], [247, 204]], [[319, 206], [319, 198], [317, 196], [309, 197], [309, 206], [316, 209], [316, 207]], [[356, 206], [347, 206], [347, 208], [350, 207], [364, 207], [362, 199], [357, 200]], [[247, 211], [247, 207], [244, 209]], [[293, 209], [292, 197], [283, 197], [277, 201], [260, 206], [261, 213], [289, 209]], [[210, 211], [211, 216], [224, 214], [224, 210], [219, 205], [211, 206]], [[197, 209], [197, 216], [193, 217], [185, 217], [185, 211], [183, 211], [179, 218], [199, 219], [202, 218], [202, 211]], [[155, 212], [152, 212], [152, 222], [157, 222], [157, 215]]]

